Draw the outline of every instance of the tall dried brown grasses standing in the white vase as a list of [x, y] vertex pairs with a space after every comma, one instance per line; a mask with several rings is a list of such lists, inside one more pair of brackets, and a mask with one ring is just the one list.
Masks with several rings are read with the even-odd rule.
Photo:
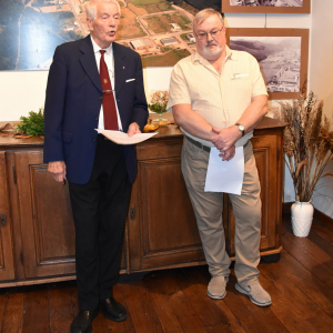
[[280, 102], [281, 118], [289, 122], [284, 130], [285, 163], [293, 180], [295, 200], [310, 202], [315, 185], [333, 160], [333, 131], [326, 117], [322, 120], [323, 102], [305, 89], [292, 103]]

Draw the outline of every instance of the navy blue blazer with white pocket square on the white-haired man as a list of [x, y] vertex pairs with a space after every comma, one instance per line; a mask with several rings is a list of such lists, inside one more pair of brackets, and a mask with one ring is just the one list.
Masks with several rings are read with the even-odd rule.
[[[113, 46], [114, 90], [123, 131], [148, 119], [142, 63], [133, 50]], [[133, 80], [134, 79], [134, 80]], [[128, 81], [131, 80], [131, 81]], [[102, 87], [90, 36], [59, 46], [50, 67], [44, 105], [44, 163], [64, 161], [67, 179], [84, 184], [91, 175]], [[124, 145], [128, 174], [138, 171], [134, 145]]]

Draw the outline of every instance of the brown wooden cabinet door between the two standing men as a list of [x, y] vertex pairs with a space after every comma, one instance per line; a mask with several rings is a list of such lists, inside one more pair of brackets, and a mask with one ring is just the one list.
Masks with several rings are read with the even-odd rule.
[[180, 157], [139, 161], [131, 210], [131, 271], [204, 263]]

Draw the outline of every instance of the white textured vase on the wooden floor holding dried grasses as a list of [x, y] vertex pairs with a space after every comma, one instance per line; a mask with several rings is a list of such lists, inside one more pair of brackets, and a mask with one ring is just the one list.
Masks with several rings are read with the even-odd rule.
[[295, 236], [306, 238], [313, 220], [313, 205], [311, 202], [295, 201], [291, 206], [292, 228]]

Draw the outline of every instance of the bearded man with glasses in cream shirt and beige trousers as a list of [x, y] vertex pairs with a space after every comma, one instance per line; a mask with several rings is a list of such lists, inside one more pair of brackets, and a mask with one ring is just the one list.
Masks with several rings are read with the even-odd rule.
[[218, 148], [221, 159], [230, 161], [235, 147], [243, 147], [242, 192], [230, 194], [235, 216], [235, 289], [254, 304], [268, 306], [271, 296], [259, 283], [261, 199], [250, 141], [268, 110], [265, 84], [256, 60], [225, 44], [225, 27], [218, 11], [200, 11], [193, 33], [196, 52], [175, 64], [168, 108], [185, 134], [182, 172], [212, 275], [208, 295], [225, 296], [231, 263], [222, 223], [223, 193], [204, 191], [210, 149]]

